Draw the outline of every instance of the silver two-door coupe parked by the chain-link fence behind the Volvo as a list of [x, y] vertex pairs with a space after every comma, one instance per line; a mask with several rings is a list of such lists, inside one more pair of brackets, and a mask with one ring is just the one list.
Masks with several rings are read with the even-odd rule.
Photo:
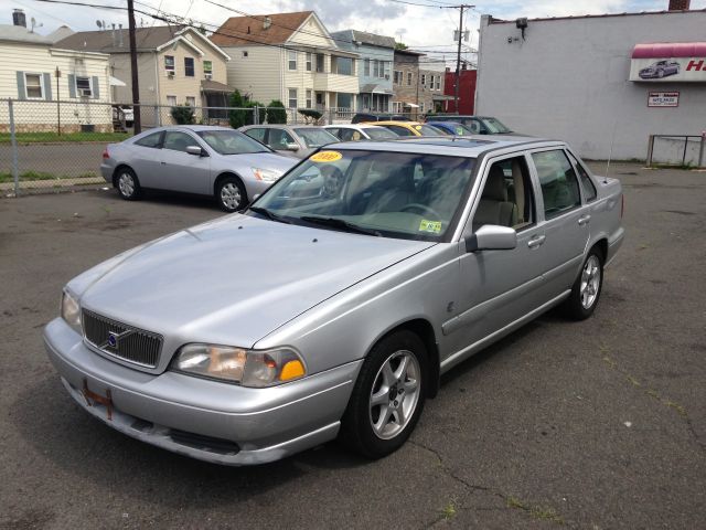
[[225, 127], [159, 127], [103, 153], [100, 172], [128, 201], [143, 188], [213, 195], [227, 212], [243, 209], [296, 163]]

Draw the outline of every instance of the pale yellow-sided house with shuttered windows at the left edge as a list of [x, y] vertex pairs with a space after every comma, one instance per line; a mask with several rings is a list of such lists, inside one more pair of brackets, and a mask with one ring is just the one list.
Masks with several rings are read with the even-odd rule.
[[[15, 10], [13, 19], [13, 25], [0, 25], [0, 99], [14, 99], [15, 130], [113, 130], [108, 55], [56, 46], [57, 35], [71, 33], [68, 28], [40, 35], [25, 26], [21, 10]], [[6, 106], [0, 112], [0, 131], [9, 130]]]

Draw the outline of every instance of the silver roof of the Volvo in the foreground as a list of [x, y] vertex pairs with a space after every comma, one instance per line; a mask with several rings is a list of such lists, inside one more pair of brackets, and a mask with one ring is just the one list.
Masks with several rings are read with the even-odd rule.
[[447, 155], [478, 158], [490, 151], [512, 148], [534, 148], [565, 146], [561, 140], [550, 140], [545, 138], [510, 137], [489, 139], [485, 135], [452, 137], [410, 137], [385, 141], [356, 141], [330, 144], [327, 149], [338, 150], [371, 150], [371, 151], [393, 151], [393, 152], [424, 152], [428, 155]]

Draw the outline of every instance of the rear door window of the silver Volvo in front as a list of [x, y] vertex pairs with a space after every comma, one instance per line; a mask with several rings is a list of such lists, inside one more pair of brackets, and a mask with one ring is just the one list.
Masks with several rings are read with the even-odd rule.
[[532, 159], [542, 186], [546, 219], [581, 204], [578, 179], [564, 150], [533, 152]]

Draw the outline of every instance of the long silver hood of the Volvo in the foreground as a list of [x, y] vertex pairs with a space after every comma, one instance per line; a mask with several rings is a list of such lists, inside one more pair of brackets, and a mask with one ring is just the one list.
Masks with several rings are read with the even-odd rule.
[[175, 342], [250, 347], [430, 246], [233, 214], [117, 256], [68, 289], [85, 309]]

